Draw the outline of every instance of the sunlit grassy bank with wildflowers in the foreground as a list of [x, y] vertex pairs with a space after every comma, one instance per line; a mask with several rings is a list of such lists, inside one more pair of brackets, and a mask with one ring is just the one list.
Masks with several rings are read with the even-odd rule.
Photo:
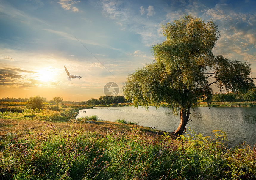
[[224, 132], [214, 131], [210, 138], [191, 131], [174, 140], [146, 127], [66, 115], [0, 113], [0, 177], [256, 179], [256, 147], [229, 150]]

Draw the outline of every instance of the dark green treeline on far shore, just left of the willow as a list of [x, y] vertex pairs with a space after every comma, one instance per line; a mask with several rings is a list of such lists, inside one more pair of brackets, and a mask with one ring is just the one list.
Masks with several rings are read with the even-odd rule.
[[87, 101], [82, 101], [79, 105], [100, 105], [100, 104], [117, 104], [125, 102], [125, 98], [123, 96], [101, 96], [99, 99], [91, 98]]

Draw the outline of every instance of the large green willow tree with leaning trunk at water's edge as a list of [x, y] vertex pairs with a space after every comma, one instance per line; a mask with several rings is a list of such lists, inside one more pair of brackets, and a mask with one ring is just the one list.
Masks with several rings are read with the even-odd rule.
[[242, 89], [252, 81], [250, 64], [213, 54], [220, 34], [212, 20], [185, 15], [162, 30], [166, 40], [152, 47], [155, 61], [130, 74], [123, 93], [135, 106], [164, 102], [175, 115], [180, 113], [174, 134], [181, 135], [199, 97], [209, 105], [213, 84], [220, 91]]

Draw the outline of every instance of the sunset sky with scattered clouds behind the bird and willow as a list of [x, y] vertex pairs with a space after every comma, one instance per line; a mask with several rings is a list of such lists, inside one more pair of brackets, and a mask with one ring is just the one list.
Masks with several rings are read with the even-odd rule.
[[[161, 25], [184, 14], [213, 20], [213, 53], [249, 62], [256, 77], [255, 0], [0, 0], [0, 98], [122, 95], [127, 76], [154, 61]], [[68, 81], [64, 65], [82, 78]]]

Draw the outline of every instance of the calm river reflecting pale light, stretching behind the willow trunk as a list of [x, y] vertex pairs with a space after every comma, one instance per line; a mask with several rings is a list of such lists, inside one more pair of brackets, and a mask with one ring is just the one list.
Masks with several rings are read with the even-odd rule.
[[[84, 112], [86, 111], [86, 112]], [[124, 119], [126, 122], [136, 122], [146, 127], [156, 127], [158, 130], [173, 132], [179, 126], [180, 118], [172, 115], [169, 108], [149, 107], [97, 107], [79, 110], [77, 118], [97, 115], [103, 121]], [[227, 133], [229, 148], [243, 142], [254, 146], [256, 143], [256, 107], [197, 107], [191, 109], [191, 121], [187, 127], [197, 134], [213, 136], [213, 130]]]

